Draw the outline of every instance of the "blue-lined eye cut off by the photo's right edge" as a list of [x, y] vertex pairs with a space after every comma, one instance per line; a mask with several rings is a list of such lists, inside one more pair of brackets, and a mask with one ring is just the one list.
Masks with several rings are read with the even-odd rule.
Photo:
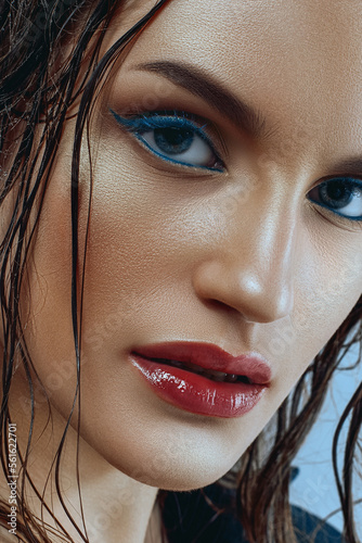
[[309, 200], [351, 220], [362, 220], [362, 181], [336, 177], [321, 182], [308, 193]]

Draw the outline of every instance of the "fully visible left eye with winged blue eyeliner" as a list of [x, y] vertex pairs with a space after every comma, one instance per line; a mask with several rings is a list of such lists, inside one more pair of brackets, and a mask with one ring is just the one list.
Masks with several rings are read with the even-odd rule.
[[185, 112], [154, 112], [116, 121], [159, 159], [189, 167], [223, 172], [224, 165], [212, 142], [196, 124], [196, 116]]

